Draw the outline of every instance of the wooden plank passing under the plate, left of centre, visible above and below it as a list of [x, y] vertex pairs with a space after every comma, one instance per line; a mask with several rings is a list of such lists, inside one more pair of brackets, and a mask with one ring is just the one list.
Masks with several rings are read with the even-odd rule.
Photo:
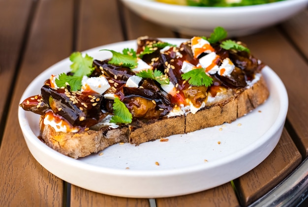
[[[81, 0], [77, 16], [77, 51], [124, 40], [117, 1]], [[148, 207], [149, 200], [109, 196], [71, 185], [70, 205]]]

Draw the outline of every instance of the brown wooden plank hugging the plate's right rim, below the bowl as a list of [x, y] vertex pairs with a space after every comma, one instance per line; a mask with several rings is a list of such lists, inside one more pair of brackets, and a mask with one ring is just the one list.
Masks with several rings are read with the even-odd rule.
[[[306, 25], [305, 27], [307, 27]], [[268, 64], [283, 81], [289, 97], [287, 119], [295, 134], [292, 138], [301, 154], [308, 155], [308, 64], [275, 28], [240, 38], [254, 56]], [[298, 136], [298, 138], [297, 138]]]

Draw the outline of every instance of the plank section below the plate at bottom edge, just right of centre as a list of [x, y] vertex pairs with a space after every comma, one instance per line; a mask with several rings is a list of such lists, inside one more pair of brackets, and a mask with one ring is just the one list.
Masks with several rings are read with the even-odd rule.
[[156, 199], [157, 207], [239, 207], [231, 182], [203, 192]]

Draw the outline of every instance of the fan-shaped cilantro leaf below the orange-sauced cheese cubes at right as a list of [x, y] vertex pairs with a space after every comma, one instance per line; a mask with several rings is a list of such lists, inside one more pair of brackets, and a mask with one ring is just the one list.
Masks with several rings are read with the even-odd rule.
[[208, 87], [213, 83], [213, 79], [205, 73], [203, 68], [191, 70], [181, 76], [184, 80], [188, 81], [190, 85], [194, 86], [205, 85]]

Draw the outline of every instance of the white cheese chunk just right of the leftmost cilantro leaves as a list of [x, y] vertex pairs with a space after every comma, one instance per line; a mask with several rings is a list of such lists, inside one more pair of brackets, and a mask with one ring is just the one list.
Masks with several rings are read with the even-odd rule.
[[81, 83], [82, 90], [91, 89], [98, 94], [103, 94], [108, 88], [110, 88], [108, 80], [103, 76], [91, 78], [84, 76]]

